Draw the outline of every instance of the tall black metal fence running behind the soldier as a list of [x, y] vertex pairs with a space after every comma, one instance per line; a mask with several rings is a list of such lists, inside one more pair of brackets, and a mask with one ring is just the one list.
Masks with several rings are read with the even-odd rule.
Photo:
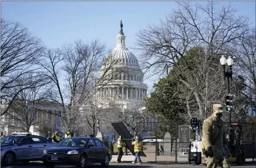
[[[255, 161], [256, 123], [236, 124], [241, 125], [241, 146], [245, 152], [246, 161]], [[196, 133], [188, 129], [187, 122], [139, 123], [137, 131], [140, 132], [140, 138], [146, 147], [144, 150], [146, 159], [157, 162], [187, 162], [189, 142], [196, 138]]]

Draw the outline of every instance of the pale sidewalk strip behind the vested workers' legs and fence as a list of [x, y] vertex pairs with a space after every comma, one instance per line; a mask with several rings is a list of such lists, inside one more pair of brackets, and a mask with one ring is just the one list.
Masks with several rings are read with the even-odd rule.
[[[135, 156], [133, 156], [131, 153], [128, 153], [127, 156], [123, 155], [121, 161], [122, 162], [129, 162], [131, 163], [134, 161]], [[155, 161], [155, 155], [147, 155], [146, 157], [141, 156], [140, 157], [141, 161], [143, 163], [156, 163]], [[117, 160], [117, 155], [112, 155], [112, 160], [110, 162], [116, 162]], [[177, 161], [179, 163], [185, 163], [188, 161], [187, 157], [178, 157]], [[162, 163], [162, 164], [170, 164], [170, 163], [175, 163], [175, 157], [174, 156], [157, 156], [157, 162]]]

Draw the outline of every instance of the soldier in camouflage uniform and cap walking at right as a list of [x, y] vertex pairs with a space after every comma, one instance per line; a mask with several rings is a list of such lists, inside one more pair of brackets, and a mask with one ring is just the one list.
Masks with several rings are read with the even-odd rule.
[[221, 104], [213, 105], [213, 113], [203, 121], [202, 148], [207, 157], [207, 168], [217, 167], [222, 155], [224, 122], [221, 119], [223, 107]]

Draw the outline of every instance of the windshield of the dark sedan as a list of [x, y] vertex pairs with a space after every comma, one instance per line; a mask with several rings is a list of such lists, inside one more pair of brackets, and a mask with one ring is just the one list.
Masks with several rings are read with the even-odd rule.
[[77, 147], [85, 147], [87, 138], [65, 138], [61, 140], [56, 146], [77, 146]]

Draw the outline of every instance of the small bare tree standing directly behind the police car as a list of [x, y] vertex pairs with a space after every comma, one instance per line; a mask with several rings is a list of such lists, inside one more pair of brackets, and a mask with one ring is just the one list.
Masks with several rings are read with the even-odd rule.
[[[29, 132], [32, 125], [37, 124], [37, 115], [43, 113], [42, 102], [49, 98], [49, 81], [44, 75], [38, 75], [35, 78], [33, 74], [26, 74], [16, 80], [19, 87], [12, 88], [21, 90], [13, 100], [6, 115], [8, 117], [7, 125], [11, 128], [21, 128]], [[23, 89], [23, 83], [32, 83], [30, 88]]]

